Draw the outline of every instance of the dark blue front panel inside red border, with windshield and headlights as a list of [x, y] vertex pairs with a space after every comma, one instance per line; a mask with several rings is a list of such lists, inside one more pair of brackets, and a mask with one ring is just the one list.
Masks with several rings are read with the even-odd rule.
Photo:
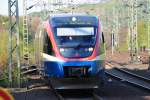
[[60, 54], [65, 58], [92, 55], [98, 35], [98, 18], [89, 16], [52, 17], [50, 25]]

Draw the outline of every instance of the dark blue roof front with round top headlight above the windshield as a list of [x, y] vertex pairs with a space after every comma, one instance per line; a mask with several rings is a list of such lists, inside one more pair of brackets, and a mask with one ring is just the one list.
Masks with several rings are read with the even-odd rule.
[[48, 18], [54, 27], [58, 26], [98, 26], [98, 17], [87, 14], [55, 14]]

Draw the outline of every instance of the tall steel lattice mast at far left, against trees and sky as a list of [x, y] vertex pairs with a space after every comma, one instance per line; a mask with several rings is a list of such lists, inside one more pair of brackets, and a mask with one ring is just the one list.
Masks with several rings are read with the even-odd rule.
[[[20, 43], [19, 43], [19, 11], [18, 0], [8, 0], [8, 14], [9, 14], [9, 65], [8, 65], [8, 79], [10, 87], [12, 87], [13, 76], [12, 71], [15, 63], [13, 62], [14, 52], [16, 53], [17, 62], [17, 85], [20, 87]], [[13, 47], [13, 36], [16, 39], [16, 46]]]

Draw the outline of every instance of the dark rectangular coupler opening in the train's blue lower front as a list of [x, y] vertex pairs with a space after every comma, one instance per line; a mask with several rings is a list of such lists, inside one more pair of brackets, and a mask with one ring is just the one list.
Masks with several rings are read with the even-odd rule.
[[64, 66], [65, 77], [88, 77], [89, 66]]

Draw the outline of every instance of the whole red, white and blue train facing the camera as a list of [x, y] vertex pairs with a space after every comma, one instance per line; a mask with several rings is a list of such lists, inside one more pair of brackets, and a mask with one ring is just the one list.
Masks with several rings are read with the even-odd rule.
[[53, 15], [40, 29], [36, 43], [45, 77], [70, 80], [73, 84], [77, 81], [83, 84], [82, 80], [86, 84], [103, 83], [104, 38], [98, 17]]

